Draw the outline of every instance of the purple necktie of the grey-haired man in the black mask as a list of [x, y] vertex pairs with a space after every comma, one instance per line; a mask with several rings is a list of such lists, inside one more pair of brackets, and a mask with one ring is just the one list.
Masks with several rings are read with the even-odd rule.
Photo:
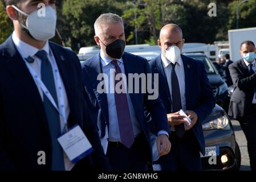
[[[117, 74], [121, 73], [121, 69], [117, 64], [117, 60], [113, 60], [111, 63], [115, 66], [116, 77]], [[120, 81], [115, 80], [115, 85], [117, 82]], [[127, 148], [131, 148], [134, 142], [134, 135], [126, 93], [115, 92], [115, 101], [121, 143], [123, 143]]]

